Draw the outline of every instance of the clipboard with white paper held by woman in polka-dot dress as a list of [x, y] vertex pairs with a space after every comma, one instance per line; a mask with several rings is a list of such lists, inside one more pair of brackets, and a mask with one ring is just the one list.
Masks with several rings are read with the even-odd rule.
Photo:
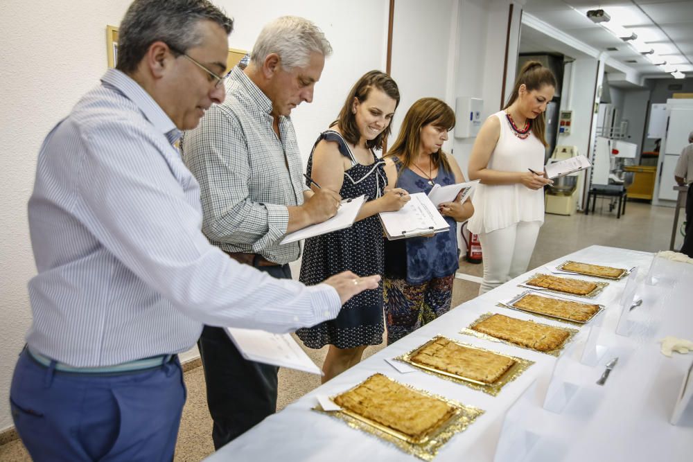
[[426, 193], [414, 193], [396, 212], [380, 212], [380, 223], [389, 240], [413, 238], [448, 231], [450, 225]]

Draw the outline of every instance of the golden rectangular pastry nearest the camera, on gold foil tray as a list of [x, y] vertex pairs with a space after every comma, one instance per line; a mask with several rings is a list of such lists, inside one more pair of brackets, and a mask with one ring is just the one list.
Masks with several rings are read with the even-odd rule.
[[358, 387], [337, 396], [334, 402], [415, 441], [434, 432], [455, 414], [455, 408], [443, 400], [418, 393], [382, 374], [371, 375]]

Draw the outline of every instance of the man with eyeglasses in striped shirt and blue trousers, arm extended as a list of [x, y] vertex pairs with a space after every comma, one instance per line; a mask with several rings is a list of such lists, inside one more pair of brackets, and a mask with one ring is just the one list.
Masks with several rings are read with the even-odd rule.
[[231, 28], [207, 0], [134, 1], [116, 69], [46, 136], [28, 204], [33, 323], [10, 390], [34, 461], [173, 460], [177, 353], [202, 323], [288, 332], [378, 284], [279, 281], [200, 231], [200, 188], [173, 143], [224, 100]]

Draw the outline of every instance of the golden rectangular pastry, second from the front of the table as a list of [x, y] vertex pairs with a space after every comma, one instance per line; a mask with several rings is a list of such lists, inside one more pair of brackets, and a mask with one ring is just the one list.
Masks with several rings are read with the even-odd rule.
[[486, 384], [498, 380], [515, 364], [509, 357], [468, 348], [444, 338], [438, 338], [426, 348], [421, 348], [412, 357], [412, 362]]

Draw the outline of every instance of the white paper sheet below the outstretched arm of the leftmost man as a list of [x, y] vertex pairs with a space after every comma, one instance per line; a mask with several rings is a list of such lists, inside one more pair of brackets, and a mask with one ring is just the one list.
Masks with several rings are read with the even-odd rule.
[[230, 327], [226, 332], [245, 359], [322, 375], [320, 368], [289, 334]]

